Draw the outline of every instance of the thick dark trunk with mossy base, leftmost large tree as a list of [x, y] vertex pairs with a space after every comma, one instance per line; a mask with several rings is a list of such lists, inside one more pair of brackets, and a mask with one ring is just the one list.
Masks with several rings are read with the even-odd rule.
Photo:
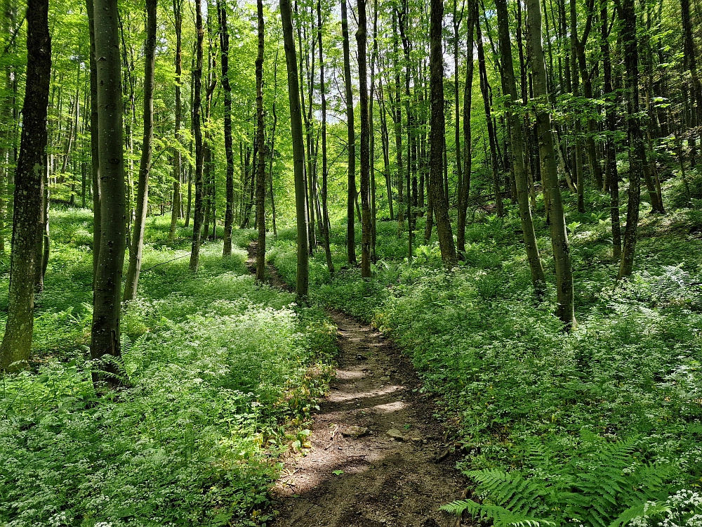
[[34, 273], [41, 247], [42, 195], [46, 173], [46, 119], [51, 79], [48, 0], [27, 4], [27, 82], [22, 108], [20, 158], [15, 172], [15, 206], [10, 291], [0, 370], [28, 366], [34, 327]]

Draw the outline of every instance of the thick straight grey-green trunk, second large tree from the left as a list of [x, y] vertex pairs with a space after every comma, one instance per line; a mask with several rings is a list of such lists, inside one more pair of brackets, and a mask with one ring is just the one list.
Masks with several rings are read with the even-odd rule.
[[95, 56], [98, 60], [98, 143], [100, 158], [100, 254], [93, 293], [91, 357], [103, 359], [104, 379], [121, 384], [119, 313], [126, 241], [126, 190], [122, 136], [121, 64], [117, 0], [95, 0]]

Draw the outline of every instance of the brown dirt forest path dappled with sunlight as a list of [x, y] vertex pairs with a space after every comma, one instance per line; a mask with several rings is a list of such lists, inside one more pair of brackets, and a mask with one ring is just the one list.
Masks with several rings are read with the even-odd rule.
[[[254, 242], [249, 267], [255, 255]], [[460, 498], [464, 482], [442, 455], [443, 428], [409, 358], [369, 325], [327, 314], [338, 326], [336, 377], [312, 417], [312, 448], [284, 459], [274, 527], [460, 525], [439, 507]]]

